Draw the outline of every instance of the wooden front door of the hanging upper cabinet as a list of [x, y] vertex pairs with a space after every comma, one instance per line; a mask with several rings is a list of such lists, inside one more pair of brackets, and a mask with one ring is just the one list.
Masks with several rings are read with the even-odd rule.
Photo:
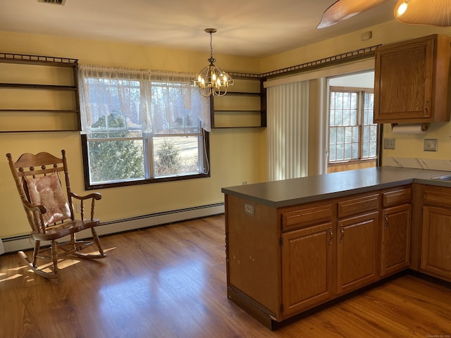
[[433, 90], [433, 39], [376, 51], [374, 76], [375, 122], [429, 118]]

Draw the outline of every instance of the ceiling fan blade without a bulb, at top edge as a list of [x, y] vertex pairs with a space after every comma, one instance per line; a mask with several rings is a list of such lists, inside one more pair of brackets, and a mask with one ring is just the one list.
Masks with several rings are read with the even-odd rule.
[[387, 0], [338, 0], [324, 11], [317, 29], [330, 27], [352, 18], [364, 11], [382, 4]]

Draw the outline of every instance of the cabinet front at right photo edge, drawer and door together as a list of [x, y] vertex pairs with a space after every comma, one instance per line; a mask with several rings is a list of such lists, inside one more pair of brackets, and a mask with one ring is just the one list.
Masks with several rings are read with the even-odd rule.
[[426, 187], [424, 204], [420, 268], [451, 281], [451, 188]]

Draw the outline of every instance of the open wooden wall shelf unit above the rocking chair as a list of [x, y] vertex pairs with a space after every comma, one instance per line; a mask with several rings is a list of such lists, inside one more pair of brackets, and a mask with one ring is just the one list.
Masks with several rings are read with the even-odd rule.
[[0, 132], [80, 130], [78, 61], [0, 53]]

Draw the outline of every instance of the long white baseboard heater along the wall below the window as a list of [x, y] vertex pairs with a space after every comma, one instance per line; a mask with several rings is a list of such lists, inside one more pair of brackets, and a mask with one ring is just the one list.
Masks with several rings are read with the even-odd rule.
[[[154, 227], [156, 225], [165, 225], [183, 220], [192, 220], [194, 218], [218, 215], [221, 213], [224, 213], [223, 203], [209, 204], [208, 206], [197, 206], [194, 208], [165, 211], [162, 213], [152, 213], [149, 215], [126, 218], [123, 220], [114, 220], [104, 223], [101, 222], [101, 225], [96, 227], [96, 230], [97, 234], [104, 236], [107, 234], [116, 234], [118, 232], [143, 229], [146, 227]], [[90, 230], [83, 230], [78, 233], [77, 238], [82, 239], [90, 236]], [[0, 240], [0, 254], [4, 252], [16, 252], [20, 250], [32, 249], [34, 246], [34, 243], [30, 240], [30, 237], [28, 237], [27, 234], [16, 237], [4, 237]]]

